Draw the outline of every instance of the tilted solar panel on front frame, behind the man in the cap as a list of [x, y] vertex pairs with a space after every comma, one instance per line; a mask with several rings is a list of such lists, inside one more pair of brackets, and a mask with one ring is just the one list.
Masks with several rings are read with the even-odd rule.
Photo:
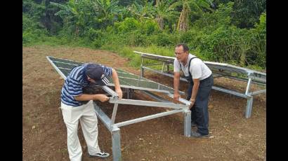
[[[84, 64], [83, 62], [76, 62], [68, 59], [59, 59], [55, 57], [47, 57], [47, 59], [54, 66], [56, 71], [58, 71], [58, 73], [63, 76], [63, 78], [67, 78], [68, 74], [70, 73], [72, 68], [74, 68], [74, 66]], [[161, 83], [157, 83], [153, 80], [137, 76], [122, 69], [115, 70], [117, 71], [121, 87], [136, 90], [148, 90], [152, 92], [174, 93], [173, 88], [162, 85]], [[108, 79], [110, 80], [108, 86], [114, 86], [114, 84], [112, 83], [112, 78], [109, 77]], [[179, 91], [179, 93], [184, 94], [184, 92], [181, 91]]]

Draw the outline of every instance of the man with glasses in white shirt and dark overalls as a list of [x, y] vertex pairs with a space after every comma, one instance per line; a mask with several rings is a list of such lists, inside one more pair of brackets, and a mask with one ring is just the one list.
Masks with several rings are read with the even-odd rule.
[[197, 127], [191, 132], [191, 137], [209, 137], [209, 94], [214, 83], [211, 70], [201, 59], [189, 53], [185, 43], [179, 43], [175, 48], [174, 60], [174, 100], [178, 101], [180, 71], [183, 71], [189, 82], [187, 100], [191, 102], [191, 125]]

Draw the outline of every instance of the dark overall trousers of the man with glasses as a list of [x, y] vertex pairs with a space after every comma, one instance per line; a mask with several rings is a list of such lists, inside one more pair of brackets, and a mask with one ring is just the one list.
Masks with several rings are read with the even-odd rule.
[[[213, 83], [214, 79], [212, 75], [204, 80], [200, 80], [196, 101], [194, 106], [191, 108], [191, 122], [196, 123], [197, 132], [200, 134], [209, 134], [208, 101]], [[191, 98], [192, 88], [193, 82], [191, 81], [188, 87], [188, 101]]]

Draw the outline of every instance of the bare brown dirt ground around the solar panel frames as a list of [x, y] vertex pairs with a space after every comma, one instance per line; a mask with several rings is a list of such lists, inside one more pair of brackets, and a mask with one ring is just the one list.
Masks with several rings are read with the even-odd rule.
[[[140, 73], [128, 65], [129, 59], [117, 53], [88, 48], [34, 46], [22, 48], [22, 160], [69, 160], [67, 132], [59, 111], [60, 90], [64, 80], [46, 56], [79, 62], [98, 62], [131, 73]], [[173, 86], [173, 79], [147, 73], [146, 78]], [[244, 83], [215, 78], [215, 85], [245, 90]], [[181, 90], [185, 89], [181, 83]], [[253, 86], [251, 90], [256, 89]], [[135, 99], [146, 99], [135, 92]], [[121, 127], [122, 160], [263, 160], [266, 152], [266, 95], [254, 97], [251, 118], [244, 118], [247, 100], [212, 90], [209, 102], [211, 138], [183, 136], [183, 116], [174, 114]], [[103, 111], [111, 116], [112, 104]], [[146, 106], [119, 105], [116, 123], [165, 111]], [[111, 134], [98, 120], [98, 141], [103, 151], [112, 154]], [[88, 158], [79, 126], [82, 160]], [[112, 160], [112, 156], [107, 158]]]

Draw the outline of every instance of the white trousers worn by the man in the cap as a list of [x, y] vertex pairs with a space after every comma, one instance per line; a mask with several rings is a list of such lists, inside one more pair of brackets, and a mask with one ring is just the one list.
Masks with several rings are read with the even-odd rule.
[[98, 146], [97, 116], [93, 108], [93, 101], [82, 106], [68, 106], [61, 102], [63, 119], [67, 127], [67, 147], [71, 161], [81, 161], [82, 149], [77, 134], [80, 120], [81, 129], [87, 144], [88, 153], [100, 153]]

